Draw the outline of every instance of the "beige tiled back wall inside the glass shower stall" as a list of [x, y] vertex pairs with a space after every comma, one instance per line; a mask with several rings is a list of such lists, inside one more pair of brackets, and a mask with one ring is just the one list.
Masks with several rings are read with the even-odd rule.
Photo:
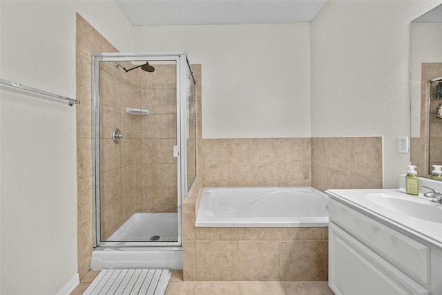
[[[131, 66], [132, 67], [132, 66]], [[131, 72], [129, 72], [131, 73]], [[138, 71], [140, 102], [148, 116], [133, 116], [135, 137], [135, 211], [177, 211], [176, 68], [155, 65], [155, 72]], [[131, 107], [131, 106], [129, 106]]]

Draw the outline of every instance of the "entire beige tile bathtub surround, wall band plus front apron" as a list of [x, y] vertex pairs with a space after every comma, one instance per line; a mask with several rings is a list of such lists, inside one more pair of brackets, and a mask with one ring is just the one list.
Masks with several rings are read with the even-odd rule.
[[[382, 187], [382, 137], [203, 139], [199, 150], [202, 170], [198, 189], [311, 186], [325, 191]], [[198, 189], [193, 189], [193, 194]], [[183, 204], [184, 280], [327, 280], [326, 229], [325, 237], [318, 237], [306, 228], [195, 228], [198, 204], [195, 196]], [[244, 238], [244, 231], [257, 236]], [[253, 265], [262, 260], [256, 253], [264, 251], [269, 254], [265, 263]], [[232, 255], [238, 258], [232, 259]], [[276, 261], [278, 272], [274, 269]], [[220, 263], [222, 272], [213, 267]]]

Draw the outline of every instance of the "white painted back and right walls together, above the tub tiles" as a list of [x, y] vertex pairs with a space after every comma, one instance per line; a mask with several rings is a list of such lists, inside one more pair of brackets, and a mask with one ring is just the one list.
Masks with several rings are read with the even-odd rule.
[[329, 1], [310, 28], [137, 27], [134, 48], [202, 64], [203, 137], [381, 135], [384, 186], [397, 187], [410, 162], [396, 148], [410, 136], [410, 21], [439, 3]]

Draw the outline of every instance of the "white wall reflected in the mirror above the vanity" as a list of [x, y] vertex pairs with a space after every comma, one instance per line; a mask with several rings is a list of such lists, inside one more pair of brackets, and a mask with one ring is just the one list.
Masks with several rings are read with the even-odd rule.
[[411, 32], [412, 137], [419, 137], [421, 133], [421, 64], [442, 62], [442, 23], [412, 23]]

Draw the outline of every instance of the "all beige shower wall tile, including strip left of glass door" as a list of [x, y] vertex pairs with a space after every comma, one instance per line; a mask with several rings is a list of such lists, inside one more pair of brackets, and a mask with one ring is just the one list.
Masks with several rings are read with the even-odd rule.
[[[90, 268], [92, 218], [92, 97], [91, 53], [117, 53], [102, 35], [77, 14], [77, 247], [80, 278]], [[126, 68], [133, 65], [122, 63]], [[133, 212], [176, 211], [175, 67], [155, 66], [154, 73], [124, 72], [104, 63], [102, 79], [102, 227], [107, 238]], [[142, 75], [144, 74], [144, 75]], [[173, 102], [173, 106], [171, 106]], [[126, 106], [147, 108], [151, 115], [128, 115]], [[118, 127], [125, 144], [114, 144]], [[169, 181], [164, 181], [169, 180]]]

